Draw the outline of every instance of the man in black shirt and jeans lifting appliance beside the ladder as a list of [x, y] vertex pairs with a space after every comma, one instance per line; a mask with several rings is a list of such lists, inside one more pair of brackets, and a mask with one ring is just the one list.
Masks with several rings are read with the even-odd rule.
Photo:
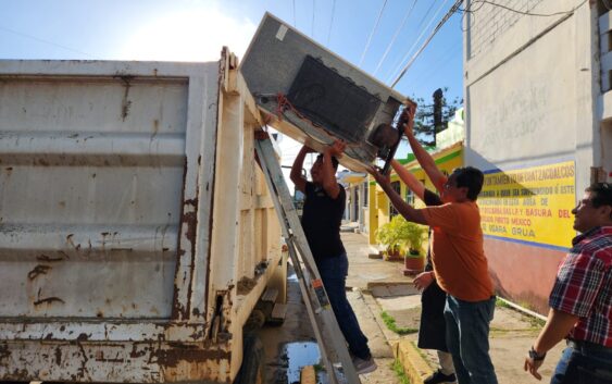
[[349, 261], [340, 239], [340, 223], [346, 194], [336, 181], [336, 157], [344, 150], [345, 144], [335, 141], [323, 154], [319, 154], [310, 171], [312, 182], [308, 182], [302, 176], [302, 166], [305, 156], [314, 151], [302, 147], [291, 166], [291, 181], [305, 195], [302, 227], [355, 370], [362, 374], [374, 371], [376, 363], [345, 290]]

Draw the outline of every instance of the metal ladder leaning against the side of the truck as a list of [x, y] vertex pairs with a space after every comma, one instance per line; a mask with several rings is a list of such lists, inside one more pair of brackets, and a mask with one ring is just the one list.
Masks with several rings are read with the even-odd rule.
[[[263, 134], [263, 135], [261, 135]], [[258, 162], [265, 175], [274, 208], [280, 222], [283, 237], [296, 270], [302, 298], [319, 343], [321, 359], [333, 384], [360, 384], [342, 332], [338, 326], [327, 293], [308, 245], [289, 188], [283, 177], [276, 151], [265, 133], [255, 139]]]

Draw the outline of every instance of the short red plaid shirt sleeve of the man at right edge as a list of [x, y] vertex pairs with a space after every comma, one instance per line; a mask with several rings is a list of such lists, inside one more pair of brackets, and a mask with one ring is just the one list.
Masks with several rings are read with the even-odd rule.
[[605, 265], [602, 260], [585, 252], [584, 248], [576, 248], [559, 268], [549, 306], [578, 318], [587, 318], [603, 284]]

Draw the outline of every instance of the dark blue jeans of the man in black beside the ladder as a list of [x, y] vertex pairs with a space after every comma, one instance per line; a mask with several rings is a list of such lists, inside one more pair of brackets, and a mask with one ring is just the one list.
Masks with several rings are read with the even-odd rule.
[[367, 347], [367, 337], [361, 332], [353, 309], [347, 299], [346, 281], [349, 273], [347, 253], [316, 260], [316, 268], [350, 352], [367, 360], [372, 356]]

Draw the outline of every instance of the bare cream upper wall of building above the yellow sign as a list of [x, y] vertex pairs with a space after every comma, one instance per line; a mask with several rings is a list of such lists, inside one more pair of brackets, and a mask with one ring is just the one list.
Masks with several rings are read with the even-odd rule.
[[[508, 0], [533, 13], [576, 0]], [[465, 15], [466, 164], [484, 170], [576, 161], [576, 187], [601, 166], [597, 11], [536, 17], [476, 3]]]

